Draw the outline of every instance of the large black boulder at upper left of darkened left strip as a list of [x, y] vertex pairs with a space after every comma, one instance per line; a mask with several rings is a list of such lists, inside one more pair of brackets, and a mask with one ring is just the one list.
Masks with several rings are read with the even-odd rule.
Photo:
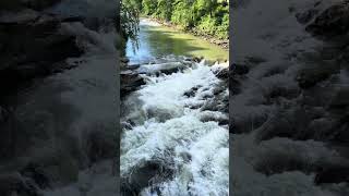
[[83, 53], [76, 37], [62, 34], [60, 27], [60, 19], [35, 11], [0, 19], [3, 88], [52, 74], [59, 62]]

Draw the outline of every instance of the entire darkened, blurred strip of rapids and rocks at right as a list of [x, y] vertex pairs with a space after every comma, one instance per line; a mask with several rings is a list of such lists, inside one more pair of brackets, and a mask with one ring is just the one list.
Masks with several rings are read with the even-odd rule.
[[232, 4], [233, 195], [349, 194], [348, 8]]

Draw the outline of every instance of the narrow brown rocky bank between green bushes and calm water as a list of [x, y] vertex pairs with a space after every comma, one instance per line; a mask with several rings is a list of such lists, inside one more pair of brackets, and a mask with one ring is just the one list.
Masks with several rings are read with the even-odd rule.
[[147, 19], [147, 20], [151, 20], [153, 22], [156, 22], [156, 23], [159, 23], [164, 26], [167, 26], [169, 28], [172, 28], [172, 29], [176, 29], [176, 30], [179, 30], [179, 32], [182, 32], [182, 33], [186, 33], [186, 34], [191, 34], [191, 35], [194, 35], [203, 40], [206, 40], [210, 44], [214, 44], [214, 45], [217, 45], [219, 46], [220, 48], [225, 49], [225, 50], [229, 50], [229, 39], [219, 39], [219, 38], [216, 38], [214, 36], [209, 36], [209, 35], [206, 35], [204, 33], [201, 33], [200, 30], [197, 29], [192, 29], [192, 30], [183, 30], [180, 26], [178, 25], [174, 25], [170, 22], [166, 22], [164, 20], [159, 20], [157, 17], [149, 17], [149, 16], [143, 16], [144, 19]]

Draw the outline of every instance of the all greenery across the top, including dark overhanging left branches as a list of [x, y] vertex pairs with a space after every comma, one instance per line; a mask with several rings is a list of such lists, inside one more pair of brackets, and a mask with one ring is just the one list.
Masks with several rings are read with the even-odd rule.
[[123, 0], [121, 24], [131, 37], [140, 15], [169, 22], [183, 30], [229, 39], [229, 0]]

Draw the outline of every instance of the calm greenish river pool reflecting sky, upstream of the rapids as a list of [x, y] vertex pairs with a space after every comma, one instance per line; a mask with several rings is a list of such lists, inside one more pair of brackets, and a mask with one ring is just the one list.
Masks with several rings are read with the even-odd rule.
[[198, 37], [159, 26], [147, 20], [141, 20], [140, 46], [136, 50], [128, 42], [127, 57], [131, 64], [149, 62], [151, 60], [169, 54], [204, 57], [207, 60], [227, 60], [228, 51], [209, 44]]

